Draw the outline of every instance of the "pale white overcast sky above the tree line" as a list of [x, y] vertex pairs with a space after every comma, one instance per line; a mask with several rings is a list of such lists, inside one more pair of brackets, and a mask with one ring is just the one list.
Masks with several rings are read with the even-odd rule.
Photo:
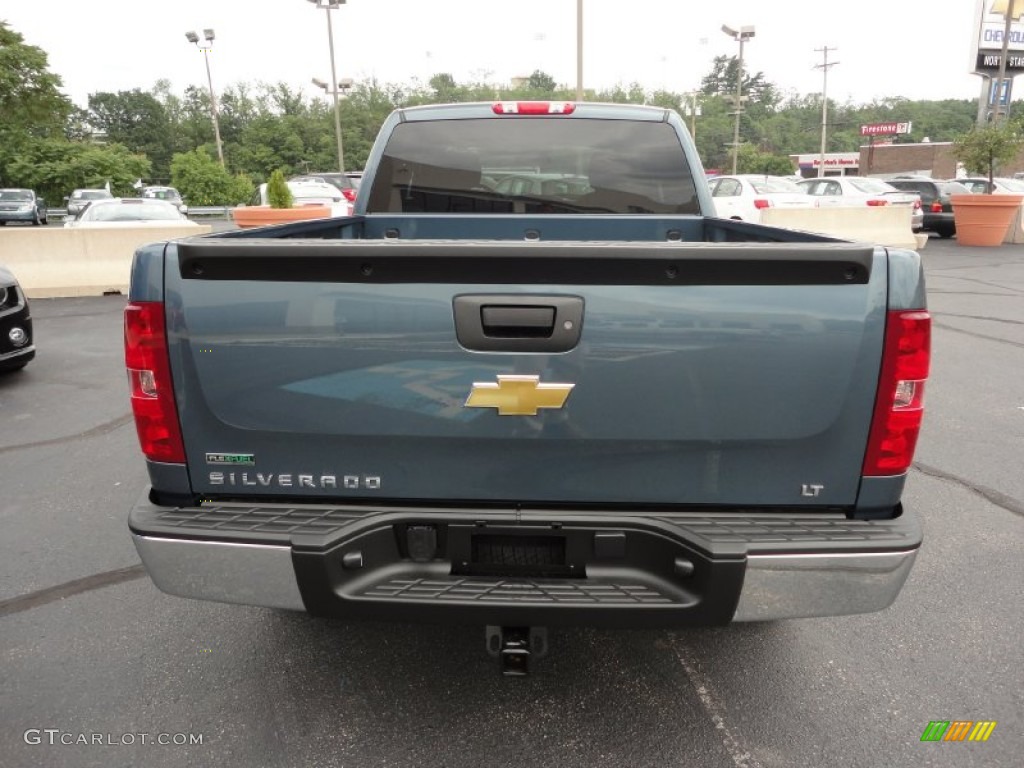
[[[986, 0], [987, 1], [987, 0]], [[970, 73], [979, 0], [584, 0], [584, 84], [639, 82], [684, 92], [737, 44], [721, 31], [753, 25], [744, 69], [784, 94], [839, 102], [977, 98]], [[80, 106], [96, 91], [148, 90], [160, 79], [181, 93], [206, 86], [203, 55], [185, 32], [216, 33], [216, 90], [285, 82], [313, 96], [331, 79], [327, 11], [309, 0], [0, 0], [0, 20], [49, 55]], [[339, 79], [508, 83], [542, 70], [575, 86], [575, 0], [348, 0], [332, 11]], [[1024, 87], [1024, 86], [1022, 86]]]

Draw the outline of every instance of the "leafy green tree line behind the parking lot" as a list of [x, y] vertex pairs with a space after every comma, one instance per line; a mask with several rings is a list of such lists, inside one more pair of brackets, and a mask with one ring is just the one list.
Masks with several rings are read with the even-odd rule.
[[[738, 62], [717, 56], [695, 93], [650, 91], [640, 83], [588, 90], [595, 101], [651, 103], [677, 111], [709, 168], [731, 166], [733, 106]], [[32, 186], [58, 204], [77, 186], [102, 186], [130, 195], [141, 178], [177, 186], [191, 205], [244, 202], [253, 185], [272, 171], [286, 175], [337, 169], [333, 104], [309, 98], [286, 83], [237, 83], [218, 96], [226, 168], [217, 161], [209, 93], [189, 86], [171, 91], [167, 81], [148, 90], [95, 92], [85, 109], [61, 92], [46, 53], [27, 45], [0, 22], [0, 184]], [[764, 73], [744, 70], [748, 100], [740, 121], [739, 170], [791, 173], [790, 155], [818, 148], [819, 94], [782, 93]], [[426, 83], [355, 85], [341, 102], [345, 164], [366, 163], [377, 131], [394, 109], [424, 103], [493, 99], [573, 100], [574, 89], [535, 72], [514, 87], [458, 82], [438, 73]], [[699, 116], [690, 111], [696, 103]], [[901, 141], [950, 141], [970, 130], [976, 102], [969, 99], [911, 101], [887, 98], [867, 104], [828, 103], [828, 152], [854, 152], [863, 142], [860, 125], [912, 121]]]

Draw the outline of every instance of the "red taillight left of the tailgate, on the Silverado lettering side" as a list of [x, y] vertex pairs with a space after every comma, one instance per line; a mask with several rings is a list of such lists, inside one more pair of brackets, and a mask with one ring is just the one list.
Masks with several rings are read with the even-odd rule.
[[142, 453], [151, 461], [183, 464], [163, 303], [133, 301], [125, 307], [125, 366]]

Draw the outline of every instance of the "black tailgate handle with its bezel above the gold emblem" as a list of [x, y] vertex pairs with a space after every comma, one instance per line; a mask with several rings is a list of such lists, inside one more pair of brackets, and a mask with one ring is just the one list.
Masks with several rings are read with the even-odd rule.
[[455, 332], [479, 352], [567, 352], [580, 343], [580, 296], [474, 295], [452, 302]]

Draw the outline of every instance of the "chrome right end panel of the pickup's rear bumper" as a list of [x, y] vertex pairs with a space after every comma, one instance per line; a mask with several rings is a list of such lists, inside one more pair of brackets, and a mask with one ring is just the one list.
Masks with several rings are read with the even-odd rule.
[[918, 550], [750, 555], [734, 622], [870, 613], [892, 605]]

